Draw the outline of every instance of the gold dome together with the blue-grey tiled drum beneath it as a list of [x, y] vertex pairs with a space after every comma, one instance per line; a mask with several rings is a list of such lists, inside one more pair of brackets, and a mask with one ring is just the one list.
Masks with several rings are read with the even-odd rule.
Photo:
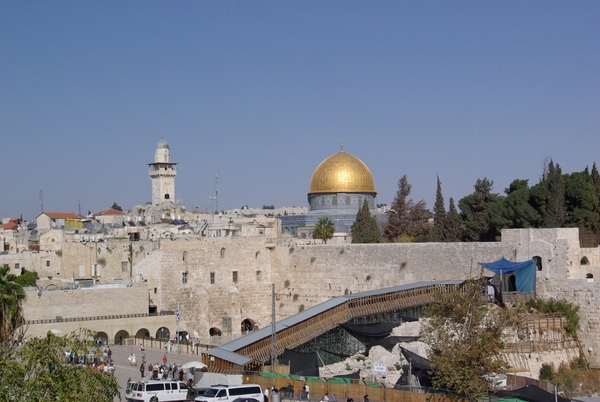
[[363, 161], [343, 151], [331, 155], [315, 169], [310, 180], [311, 211], [357, 211], [367, 199], [376, 208], [375, 180]]

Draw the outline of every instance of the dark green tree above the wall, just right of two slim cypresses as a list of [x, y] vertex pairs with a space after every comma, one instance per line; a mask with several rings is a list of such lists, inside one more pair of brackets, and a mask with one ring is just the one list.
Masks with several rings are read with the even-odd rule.
[[[494, 182], [487, 178], [477, 179], [475, 191], [458, 201], [465, 230], [466, 241], [495, 241], [500, 235], [502, 197], [492, 194]], [[500, 225], [501, 226], [501, 225]]]

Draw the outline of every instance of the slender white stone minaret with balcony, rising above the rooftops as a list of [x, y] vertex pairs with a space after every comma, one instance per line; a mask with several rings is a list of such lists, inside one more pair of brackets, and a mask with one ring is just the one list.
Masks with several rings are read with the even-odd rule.
[[164, 201], [175, 202], [175, 170], [176, 163], [171, 162], [169, 143], [163, 139], [156, 144], [154, 163], [149, 163], [150, 179], [152, 180], [152, 205]]

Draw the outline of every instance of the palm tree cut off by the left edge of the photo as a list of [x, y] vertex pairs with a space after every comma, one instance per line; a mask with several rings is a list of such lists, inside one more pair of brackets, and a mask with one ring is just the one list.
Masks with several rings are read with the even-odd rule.
[[27, 297], [23, 287], [15, 282], [10, 268], [0, 268], [0, 342], [12, 339], [14, 330], [22, 322], [21, 304]]

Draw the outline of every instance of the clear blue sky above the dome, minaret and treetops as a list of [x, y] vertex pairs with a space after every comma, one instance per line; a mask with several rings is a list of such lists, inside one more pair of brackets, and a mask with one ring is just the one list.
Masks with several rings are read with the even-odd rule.
[[305, 206], [344, 150], [433, 208], [600, 163], [598, 1], [0, 2], [0, 216]]

